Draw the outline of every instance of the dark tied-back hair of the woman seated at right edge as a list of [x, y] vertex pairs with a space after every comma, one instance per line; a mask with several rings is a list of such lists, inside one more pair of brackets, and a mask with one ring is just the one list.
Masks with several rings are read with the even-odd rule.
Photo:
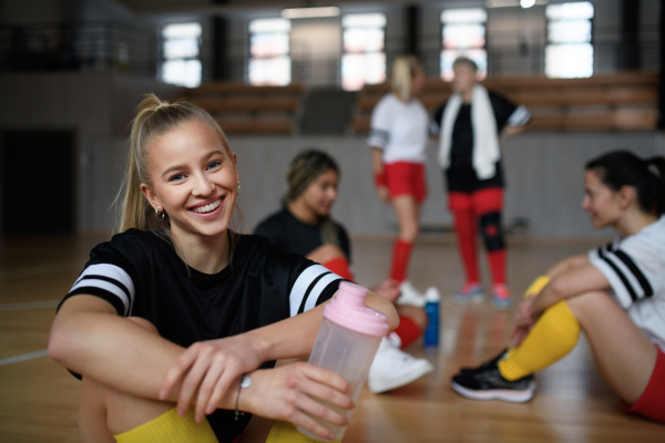
[[628, 151], [614, 151], [586, 163], [586, 171], [596, 172], [612, 190], [631, 186], [643, 212], [665, 214], [664, 157], [642, 159]]

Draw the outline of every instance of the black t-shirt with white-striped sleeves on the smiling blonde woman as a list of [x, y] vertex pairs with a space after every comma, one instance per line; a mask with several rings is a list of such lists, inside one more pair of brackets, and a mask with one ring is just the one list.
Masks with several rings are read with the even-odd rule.
[[[170, 241], [129, 229], [94, 247], [64, 300], [100, 297], [120, 316], [144, 318], [165, 339], [188, 347], [309, 310], [330, 299], [339, 281], [321, 265], [252, 235], [238, 236], [232, 265], [204, 274], [187, 267]], [[208, 421], [224, 443], [239, 435], [249, 418], [235, 421], [233, 411], [217, 410]]]

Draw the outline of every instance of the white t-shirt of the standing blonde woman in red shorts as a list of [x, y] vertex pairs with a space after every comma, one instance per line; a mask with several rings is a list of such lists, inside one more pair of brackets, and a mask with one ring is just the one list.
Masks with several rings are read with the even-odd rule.
[[426, 163], [429, 115], [419, 100], [385, 95], [371, 113], [367, 144], [383, 150], [383, 163]]

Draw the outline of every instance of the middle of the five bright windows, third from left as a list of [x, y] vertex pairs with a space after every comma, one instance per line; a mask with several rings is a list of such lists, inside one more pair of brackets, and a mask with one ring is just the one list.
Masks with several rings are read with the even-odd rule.
[[386, 16], [348, 14], [341, 20], [341, 87], [358, 91], [386, 81]]

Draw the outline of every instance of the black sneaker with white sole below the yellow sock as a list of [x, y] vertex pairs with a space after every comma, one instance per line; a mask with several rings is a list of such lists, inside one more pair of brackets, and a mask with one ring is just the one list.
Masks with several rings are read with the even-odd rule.
[[528, 402], [535, 393], [533, 375], [508, 381], [499, 372], [493, 359], [475, 370], [460, 371], [452, 378], [450, 385], [462, 396], [473, 400], [503, 400], [513, 403]]

